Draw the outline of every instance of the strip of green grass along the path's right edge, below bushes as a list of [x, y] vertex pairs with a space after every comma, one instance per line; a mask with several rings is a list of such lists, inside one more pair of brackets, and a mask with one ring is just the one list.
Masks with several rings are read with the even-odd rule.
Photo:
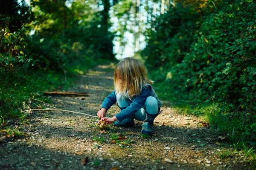
[[[181, 115], [195, 115], [211, 125], [225, 136], [225, 141], [229, 143], [237, 152], [249, 156], [250, 160], [256, 161], [256, 115], [247, 113], [244, 119], [244, 112], [231, 112], [227, 104], [218, 103], [214, 98], [208, 101], [200, 101], [193, 93], [189, 94], [172, 89], [165, 83], [154, 84], [160, 100], [167, 100], [172, 110]], [[204, 134], [198, 134], [204, 135]], [[225, 151], [221, 157], [232, 156], [233, 153]]]

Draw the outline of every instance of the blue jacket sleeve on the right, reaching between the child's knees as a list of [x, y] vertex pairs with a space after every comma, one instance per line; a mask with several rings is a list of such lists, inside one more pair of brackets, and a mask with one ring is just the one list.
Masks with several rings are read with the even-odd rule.
[[134, 101], [131, 102], [130, 106], [128, 106], [126, 109], [121, 110], [116, 115], [116, 118], [118, 121], [123, 121], [125, 118], [130, 117], [131, 115], [134, 115], [135, 112], [137, 112], [140, 108], [143, 107], [145, 104], [146, 99], [151, 95], [151, 89], [146, 87], [143, 88], [140, 95], [137, 95]]

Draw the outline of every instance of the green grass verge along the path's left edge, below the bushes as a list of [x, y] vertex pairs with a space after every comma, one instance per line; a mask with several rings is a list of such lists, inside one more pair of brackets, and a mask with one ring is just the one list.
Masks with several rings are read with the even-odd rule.
[[[89, 68], [107, 63], [104, 60], [76, 61], [66, 68], [66, 74], [55, 70], [15, 70], [0, 75], [0, 124], [10, 119], [25, 120], [30, 114], [22, 112], [30, 107], [29, 98], [36, 98], [46, 103], [51, 103], [49, 96], [44, 96], [44, 91], [65, 91], [74, 86], [76, 76], [84, 74]], [[32, 107], [44, 108], [39, 102], [33, 101]]]

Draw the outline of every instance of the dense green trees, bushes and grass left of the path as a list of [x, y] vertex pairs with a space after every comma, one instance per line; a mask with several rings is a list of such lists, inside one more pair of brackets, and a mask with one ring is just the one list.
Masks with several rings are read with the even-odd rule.
[[99, 10], [105, 4], [95, 0], [1, 4], [0, 121], [25, 118], [20, 111], [29, 97], [46, 89], [64, 90], [74, 74], [83, 74], [102, 59], [114, 59], [108, 11]]

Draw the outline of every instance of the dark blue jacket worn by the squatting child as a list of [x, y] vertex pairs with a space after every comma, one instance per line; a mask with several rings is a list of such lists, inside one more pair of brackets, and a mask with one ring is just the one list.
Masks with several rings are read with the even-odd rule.
[[[116, 118], [118, 119], [118, 121], [121, 122], [125, 118], [128, 118], [131, 115], [134, 115], [135, 112], [137, 112], [139, 109], [141, 109], [143, 107], [143, 105], [145, 104], [146, 99], [149, 96], [153, 96], [157, 99], [158, 108], [163, 106], [163, 104], [158, 99], [157, 95], [155, 94], [155, 91], [154, 91], [153, 87], [151, 86], [151, 84], [147, 84], [146, 86], [143, 87], [140, 95], [135, 95], [132, 98], [130, 98], [130, 100], [131, 100], [130, 106], [128, 106], [126, 109], [121, 110], [121, 112], [119, 112], [116, 115]], [[110, 107], [113, 104], [116, 104], [116, 90], [114, 90], [110, 95], [108, 95], [105, 98], [104, 102], [102, 103], [101, 108], [105, 108], [105, 109], [108, 110], [108, 109], [110, 109]]]

